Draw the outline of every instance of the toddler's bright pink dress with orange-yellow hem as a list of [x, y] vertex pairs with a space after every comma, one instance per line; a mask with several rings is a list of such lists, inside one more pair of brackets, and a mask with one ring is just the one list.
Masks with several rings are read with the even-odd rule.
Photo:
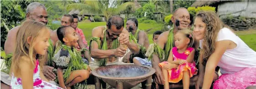
[[[188, 47], [185, 52], [178, 53], [177, 47], [173, 47], [172, 48], [173, 61], [187, 60], [188, 55], [190, 54], [190, 52], [193, 51], [193, 49], [194, 49], [193, 47]], [[163, 61], [163, 62], [159, 63], [159, 66], [162, 68], [162, 66], [164, 66], [165, 64], [167, 64], [167, 61]], [[190, 78], [193, 77], [193, 75], [197, 74], [197, 68], [195, 66], [194, 61], [193, 61], [193, 63], [186, 63], [183, 65], [179, 65], [178, 68], [172, 68], [167, 71], [168, 71], [168, 78], [169, 78], [168, 81], [170, 83], [178, 83], [180, 80], [182, 80], [183, 71], [189, 71]]]

